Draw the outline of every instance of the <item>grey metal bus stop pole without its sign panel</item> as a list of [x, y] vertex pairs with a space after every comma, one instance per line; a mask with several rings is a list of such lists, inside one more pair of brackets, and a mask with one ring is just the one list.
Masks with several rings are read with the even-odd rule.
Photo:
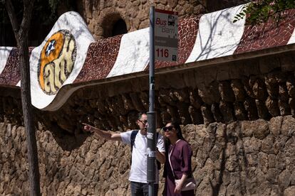
[[155, 7], [150, 7], [150, 107], [148, 111], [148, 195], [154, 196], [154, 183], [155, 183]]

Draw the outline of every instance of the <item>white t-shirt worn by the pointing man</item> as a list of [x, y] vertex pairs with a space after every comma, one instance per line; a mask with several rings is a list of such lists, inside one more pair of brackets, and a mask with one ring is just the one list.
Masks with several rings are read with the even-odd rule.
[[[135, 131], [135, 130], [133, 130]], [[120, 133], [123, 143], [131, 143], [132, 131], [126, 131], [124, 133]], [[135, 141], [133, 144], [132, 151], [132, 163], [130, 169], [129, 180], [137, 183], [148, 183], [147, 181], [147, 170], [148, 170], [148, 139], [146, 135], [138, 134], [135, 137]], [[157, 137], [157, 149], [160, 152], [165, 152], [165, 143], [163, 136], [159, 134]], [[156, 178], [155, 183], [159, 183], [159, 170], [156, 167]]]

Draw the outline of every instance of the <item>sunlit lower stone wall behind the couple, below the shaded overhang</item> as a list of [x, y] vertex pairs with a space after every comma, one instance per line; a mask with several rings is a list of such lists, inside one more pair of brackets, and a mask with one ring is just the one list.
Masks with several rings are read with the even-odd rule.
[[[38, 128], [42, 195], [130, 195], [129, 146]], [[24, 128], [0, 123], [0, 131], [0, 195], [29, 195]], [[293, 116], [189, 124], [183, 131], [193, 149], [196, 195], [294, 194]], [[160, 192], [163, 183], [161, 176]]]

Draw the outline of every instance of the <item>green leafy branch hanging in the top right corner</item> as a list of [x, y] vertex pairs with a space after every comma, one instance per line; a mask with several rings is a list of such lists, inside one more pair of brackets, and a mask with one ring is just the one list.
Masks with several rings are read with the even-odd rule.
[[269, 18], [278, 22], [281, 13], [286, 9], [294, 9], [295, 0], [258, 0], [252, 1], [243, 7], [242, 11], [234, 16], [234, 23], [247, 17], [247, 24], [259, 24], [266, 22]]

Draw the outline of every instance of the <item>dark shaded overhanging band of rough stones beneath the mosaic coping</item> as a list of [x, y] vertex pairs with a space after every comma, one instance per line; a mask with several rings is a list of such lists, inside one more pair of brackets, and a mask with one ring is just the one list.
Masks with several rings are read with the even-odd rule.
[[[171, 119], [208, 125], [294, 115], [294, 62], [289, 52], [177, 72], [167, 68], [155, 76], [157, 126]], [[147, 110], [148, 76], [143, 76], [80, 89], [58, 111], [36, 113], [48, 129], [80, 134], [81, 122], [104, 130], [135, 129], [136, 114]]]

